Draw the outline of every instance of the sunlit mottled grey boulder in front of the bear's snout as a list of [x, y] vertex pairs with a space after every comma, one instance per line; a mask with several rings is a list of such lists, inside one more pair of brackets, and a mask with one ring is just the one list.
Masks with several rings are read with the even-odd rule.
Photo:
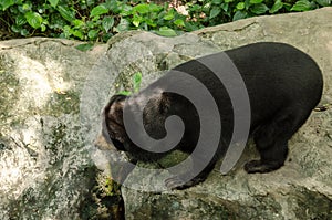
[[0, 219], [93, 216], [96, 171], [80, 123], [80, 96], [106, 46], [84, 53], [77, 44], [0, 42]]

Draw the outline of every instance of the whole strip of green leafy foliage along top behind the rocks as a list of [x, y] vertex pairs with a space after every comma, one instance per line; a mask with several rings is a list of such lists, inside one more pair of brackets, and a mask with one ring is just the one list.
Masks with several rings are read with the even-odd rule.
[[[167, 2], [167, 1], [165, 1]], [[194, 0], [188, 15], [146, 0], [0, 0], [0, 30], [12, 38], [44, 35], [107, 41], [128, 30], [164, 36], [261, 14], [308, 11], [331, 0]]]

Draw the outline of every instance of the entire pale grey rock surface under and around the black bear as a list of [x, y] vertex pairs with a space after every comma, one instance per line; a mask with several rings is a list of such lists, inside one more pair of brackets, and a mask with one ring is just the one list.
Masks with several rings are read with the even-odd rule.
[[[0, 219], [96, 218], [93, 160], [104, 167], [108, 154], [92, 144], [100, 112], [110, 95], [131, 88], [136, 72], [144, 87], [193, 57], [252, 42], [286, 42], [321, 66], [321, 104], [331, 104], [331, 20], [332, 8], [323, 8], [172, 39], [126, 32], [90, 52], [64, 40], [0, 42]], [[123, 187], [126, 219], [332, 218], [331, 108], [312, 113], [290, 142], [289, 160], [280, 170], [247, 175], [242, 165], [256, 156], [249, 146], [228, 175], [216, 166], [205, 182], [187, 190], [154, 193]], [[151, 184], [148, 176], [143, 179]]]

